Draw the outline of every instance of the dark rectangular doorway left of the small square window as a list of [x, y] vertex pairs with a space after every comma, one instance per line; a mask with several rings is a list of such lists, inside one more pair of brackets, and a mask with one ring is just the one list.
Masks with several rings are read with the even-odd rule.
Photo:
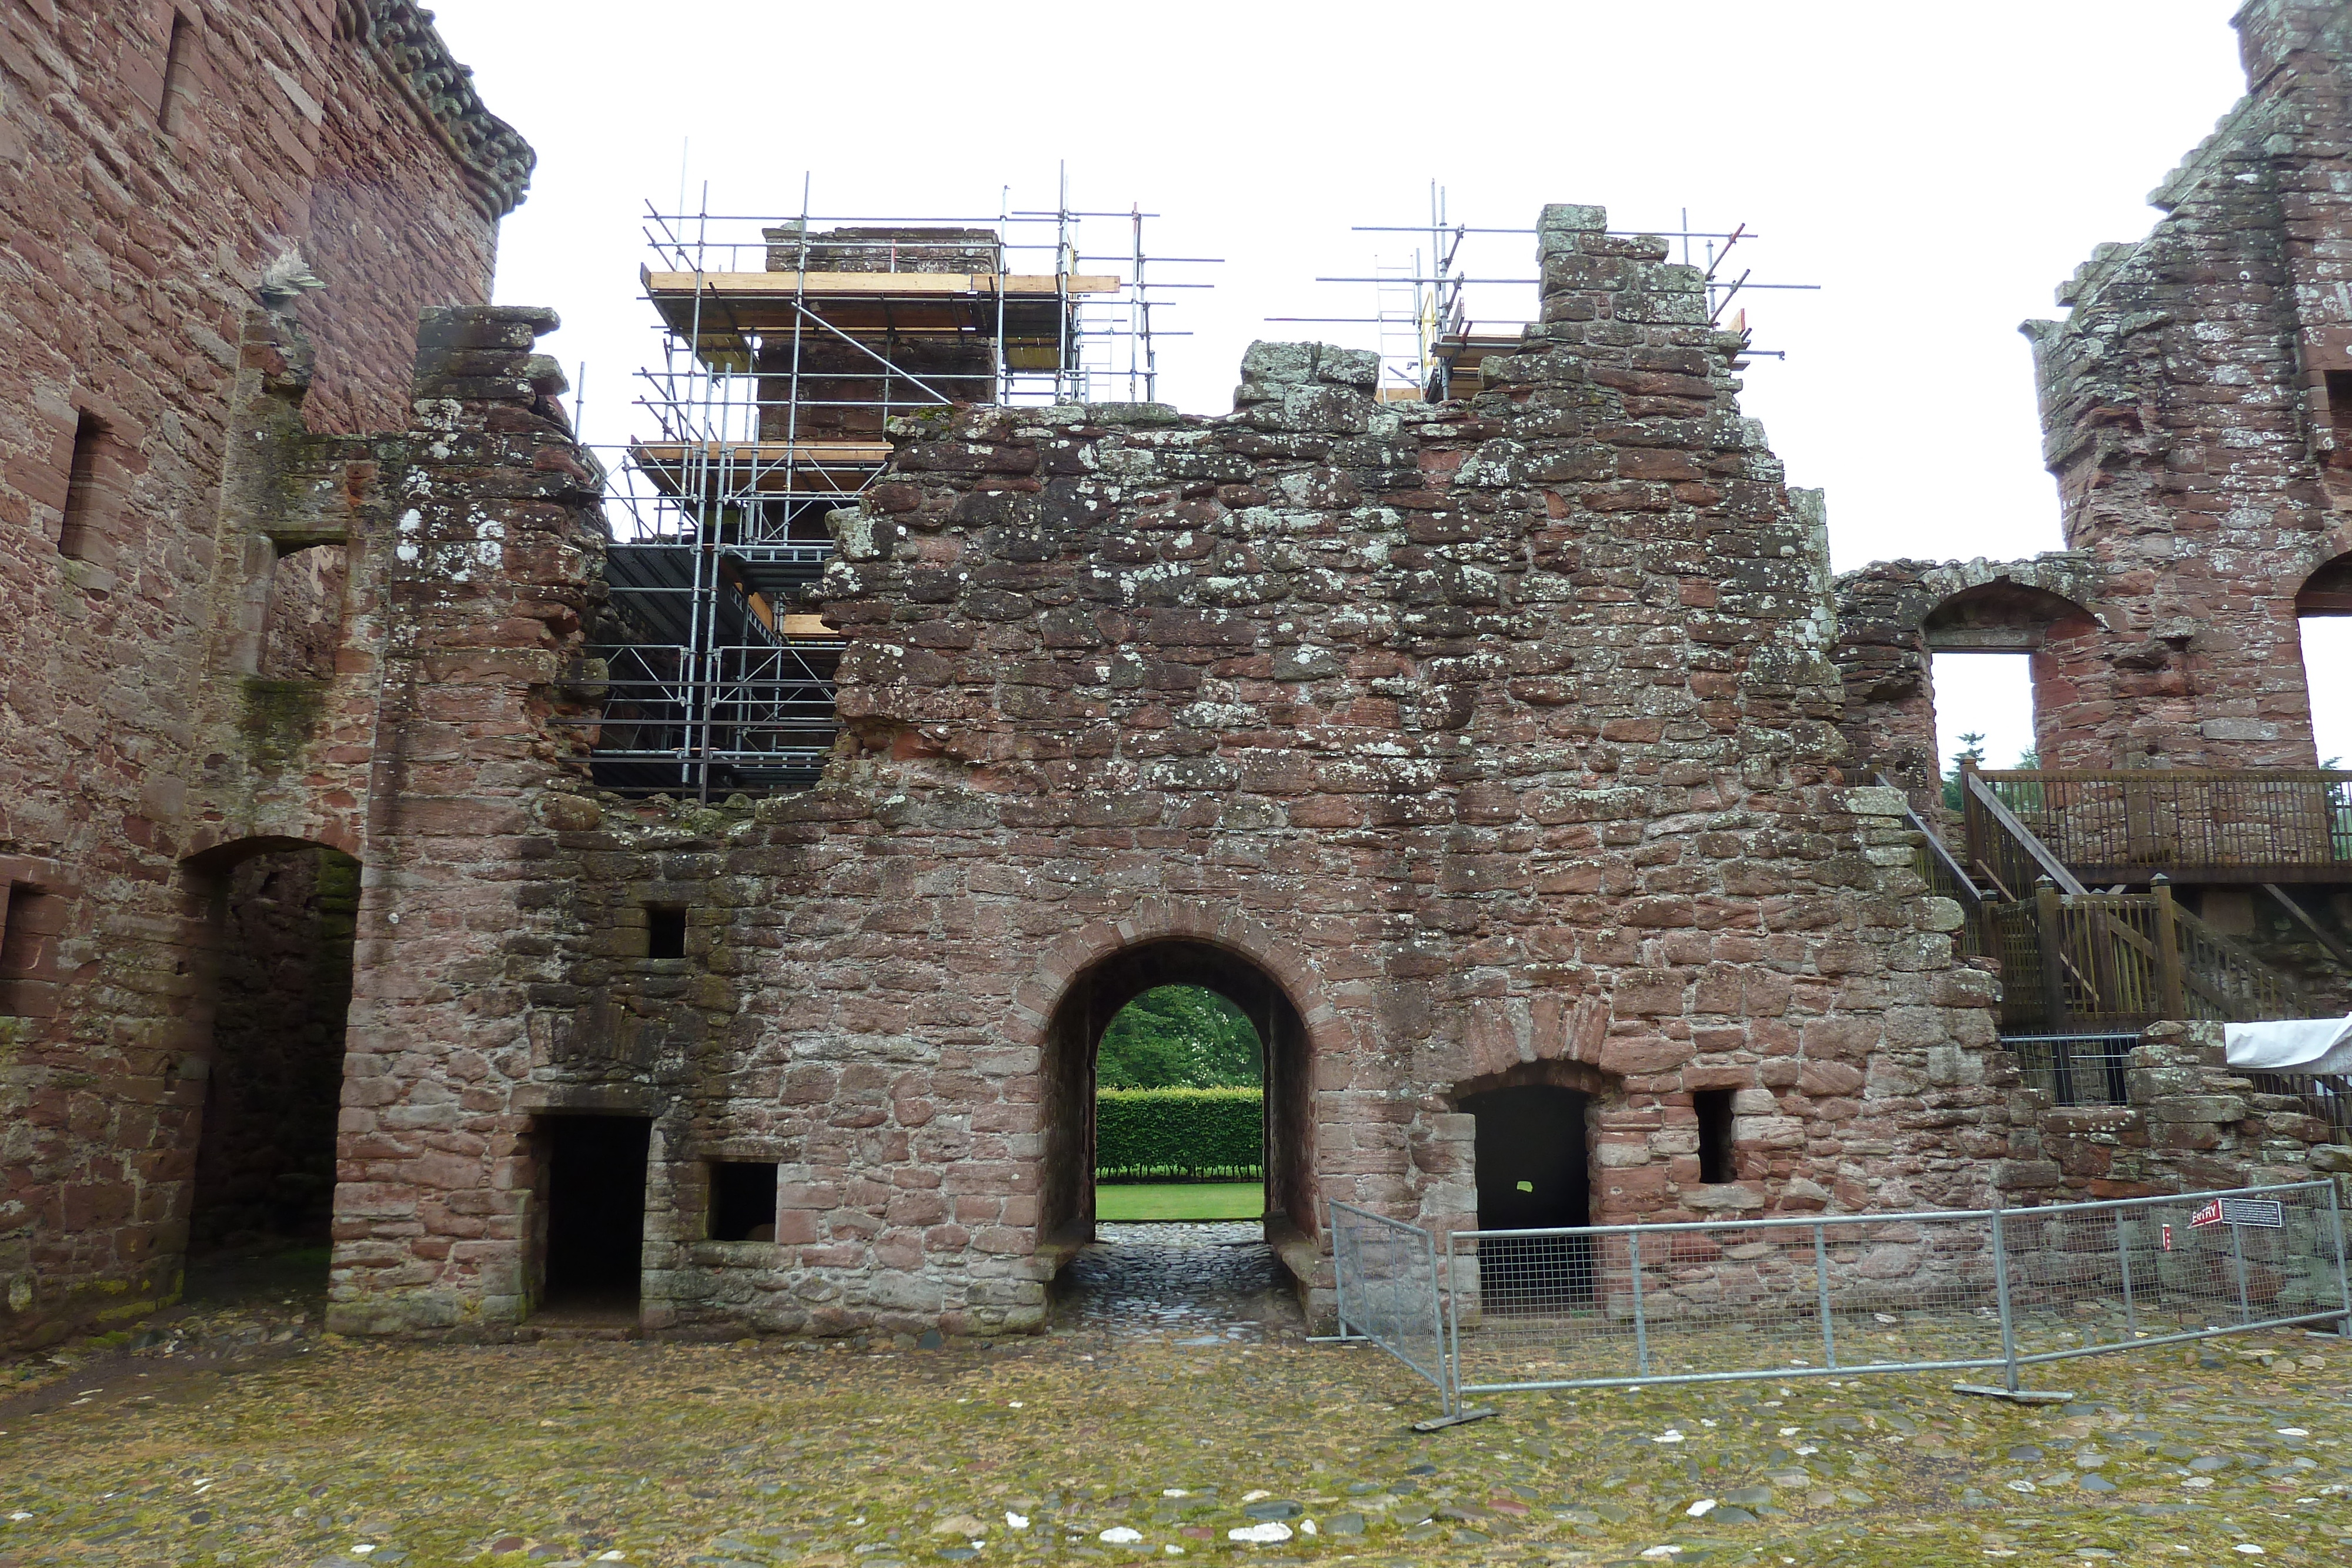
[[644, 1279], [647, 1117], [546, 1117], [548, 1312], [637, 1316]]

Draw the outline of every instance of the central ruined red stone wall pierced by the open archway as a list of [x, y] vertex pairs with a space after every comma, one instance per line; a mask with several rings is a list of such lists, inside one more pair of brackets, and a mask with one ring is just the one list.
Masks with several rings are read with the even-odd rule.
[[[835, 517], [823, 783], [541, 795], [527, 936], [430, 971], [473, 1079], [386, 1053], [367, 1095], [494, 1128], [489, 1199], [527, 1185], [513, 1121], [463, 1112], [652, 1117], [656, 1328], [1040, 1326], [1044, 1046], [1157, 943], [1303, 1020], [1312, 1187], [1282, 1222], [1317, 1307], [1324, 1199], [1475, 1220], [1458, 1100], [1501, 1084], [1595, 1095], [1599, 1220], [1983, 1197], [1992, 985], [1952, 966], [1900, 799], [1839, 776], [1818, 527], [1738, 414], [1738, 341], [1599, 209], [1545, 209], [1541, 263], [1545, 320], [1472, 402], [1381, 404], [1367, 355], [1258, 346], [1225, 418], [901, 423]], [[689, 907], [684, 959], [644, 957], [647, 905]], [[1698, 1180], [1693, 1088], [1738, 1093], [1733, 1182]], [[774, 1244], [706, 1239], [713, 1157], [783, 1166]], [[482, 1166], [414, 1171], [477, 1192]], [[461, 1298], [416, 1201], [346, 1187], [336, 1321], [520, 1312], [508, 1213]]]

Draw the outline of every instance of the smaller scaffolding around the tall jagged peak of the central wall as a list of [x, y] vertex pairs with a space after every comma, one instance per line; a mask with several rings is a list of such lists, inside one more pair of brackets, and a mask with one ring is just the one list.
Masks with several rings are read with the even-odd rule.
[[[1442, 402], [1446, 397], [1468, 397], [1484, 386], [1482, 364], [1486, 357], [1519, 353], [1522, 331], [1526, 329], [1526, 296], [1510, 296], [1519, 303], [1503, 306], [1501, 313], [1479, 313], [1475, 306], [1484, 308], [1496, 303], [1494, 296], [1486, 294], [1491, 287], [1526, 289], [1538, 287], [1543, 280], [1475, 275], [1470, 268], [1470, 254], [1477, 252], [1479, 256], [1486, 256], [1491, 252], [1486, 240], [1494, 235], [1534, 237], [1534, 228], [1475, 228], [1470, 223], [1456, 223], [1446, 216], [1444, 186], [1432, 181], [1428, 223], [1359, 223], [1352, 233], [1414, 235], [1418, 240], [1406, 259], [1376, 261], [1369, 275], [1315, 280], [1336, 284], [1371, 284], [1374, 313], [1270, 315], [1265, 320], [1374, 327], [1381, 355], [1378, 397], [1383, 402]], [[1672, 230], [1611, 233], [1628, 237], [1646, 233], [1668, 242], [1679, 240], [1682, 261], [1705, 270], [1708, 320], [1738, 331], [1743, 339], [1750, 334], [1748, 310], [1731, 308], [1733, 299], [1743, 292], [1813, 292], [1820, 287], [1809, 282], [1757, 282], [1750, 268], [1740, 268], [1738, 275], [1731, 275], [1729, 263], [1733, 247], [1757, 240], [1757, 235], [1748, 233], [1745, 223], [1729, 230], [1693, 230], [1691, 214], [1684, 212], [1682, 226]], [[1508, 270], [1508, 266], [1503, 270]], [[1750, 343], [1740, 350], [1740, 357], [1780, 360], [1785, 355], [1783, 350], [1755, 348]]]

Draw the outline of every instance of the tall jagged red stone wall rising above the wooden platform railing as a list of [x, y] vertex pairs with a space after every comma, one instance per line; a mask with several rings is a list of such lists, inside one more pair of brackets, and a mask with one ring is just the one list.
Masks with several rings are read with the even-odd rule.
[[[2352, 371], [2352, 12], [2251, 0], [2246, 99], [2025, 322], [2096, 642], [2044, 679], [2044, 766], [2312, 766], [2296, 590], [2352, 550], [2328, 374]], [[2352, 397], [2352, 383], [2345, 395]]]

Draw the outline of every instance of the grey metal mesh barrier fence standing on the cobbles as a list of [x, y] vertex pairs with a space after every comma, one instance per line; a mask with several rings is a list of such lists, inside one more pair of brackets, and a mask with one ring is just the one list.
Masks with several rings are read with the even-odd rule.
[[[1348, 1211], [1392, 1248], [1381, 1342], [1463, 1396], [1517, 1389], [2002, 1368], [2260, 1328], [2352, 1333], [2336, 1182], [2176, 1197], [1693, 1225], [1454, 1232]], [[1341, 1206], [1334, 1206], [1338, 1248]], [[1439, 1255], [1428, 1307], [1402, 1260]], [[1362, 1267], [1362, 1265], [1355, 1265]], [[1371, 1281], [1341, 1265], [1341, 1295]], [[1439, 1373], [1395, 1349], [1442, 1307]], [[1416, 1342], [1418, 1349], [1418, 1342]]]

